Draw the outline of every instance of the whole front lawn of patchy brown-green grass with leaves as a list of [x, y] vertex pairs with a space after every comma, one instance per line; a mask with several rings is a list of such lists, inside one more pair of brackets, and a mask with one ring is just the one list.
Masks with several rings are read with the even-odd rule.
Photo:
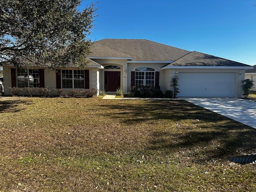
[[254, 191], [256, 130], [183, 100], [0, 98], [0, 192]]

